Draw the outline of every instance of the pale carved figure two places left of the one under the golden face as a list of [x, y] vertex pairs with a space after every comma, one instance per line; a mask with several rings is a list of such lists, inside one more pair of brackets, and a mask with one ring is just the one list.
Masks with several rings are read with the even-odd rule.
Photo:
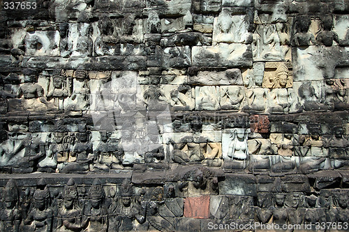
[[221, 87], [221, 108], [223, 110], [240, 110], [244, 95], [242, 87]]

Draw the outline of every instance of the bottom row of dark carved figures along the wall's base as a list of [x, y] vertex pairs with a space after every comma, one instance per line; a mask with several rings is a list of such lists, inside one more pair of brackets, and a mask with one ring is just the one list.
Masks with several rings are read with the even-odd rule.
[[[127, 191], [128, 184], [125, 186], [124, 191]], [[258, 201], [255, 201], [258, 206], [253, 206], [251, 197], [216, 196], [219, 200], [211, 202], [211, 218], [228, 219], [225, 217], [235, 217], [235, 214], [227, 212], [236, 211], [245, 219], [254, 218], [263, 224], [348, 222], [348, 191], [332, 190], [320, 191], [319, 196], [304, 196], [302, 193], [261, 193], [256, 198]], [[147, 200], [143, 197], [144, 192], [138, 196], [131, 196], [132, 194], [127, 192], [116, 196], [114, 189], [110, 189], [106, 196], [103, 185], [95, 179], [89, 192], [85, 192], [84, 197], [81, 194], [72, 178], [64, 186], [61, 195], [50, 192], [43, 179], [38, 181], [34, 194], [30, 193], [29, 188], [22, 193], [15, 180], [11, 179], [3, 189], [0, 230], [144, 231], [149, 229], [149, 226], [161, 229], [165, 224], [161, 225], [158, 222], [163, 222], [166, 217], [183, 216], [183, 198], [173, 198], [174, 195], [169, 194], [170, 198], [164, 199], [161, 187], [151, 191]], [[229, 208], [226, 208], [225, 202], [230, 205]], [[219, 208], [226, 208], [227, 212], [221, 212]], [[248, 212], [242, 212], [244, 209]], [[162, 229], [165, 230], [166, 228]]]

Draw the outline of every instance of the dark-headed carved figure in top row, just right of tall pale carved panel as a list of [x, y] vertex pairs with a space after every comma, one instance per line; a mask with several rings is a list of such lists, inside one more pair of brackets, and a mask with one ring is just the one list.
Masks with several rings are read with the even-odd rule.
[[294, 43], [296, 46], [309, 46], [315, 44], [315, 37], [309, 32], [311, 24], [310, 17], [308, 15], [302, 15], [297, 17], [296, 31], [294, 37]]

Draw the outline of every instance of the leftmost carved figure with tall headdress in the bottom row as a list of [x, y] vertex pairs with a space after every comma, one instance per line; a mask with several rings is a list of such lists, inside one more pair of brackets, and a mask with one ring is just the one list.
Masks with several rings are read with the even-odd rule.
[[15, 180], [8, 180], [3, 189], [2, 200], [5, 207], [0, 210], [0, 231], [20, 231], [22, 215], [18, 207], [19, 191]]

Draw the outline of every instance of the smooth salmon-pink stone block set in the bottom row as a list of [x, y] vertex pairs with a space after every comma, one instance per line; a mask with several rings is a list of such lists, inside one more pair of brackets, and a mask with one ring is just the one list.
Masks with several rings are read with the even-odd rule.
[[209, 218], [209, 196], [187, 197], [184, 201], [184, 217]]

